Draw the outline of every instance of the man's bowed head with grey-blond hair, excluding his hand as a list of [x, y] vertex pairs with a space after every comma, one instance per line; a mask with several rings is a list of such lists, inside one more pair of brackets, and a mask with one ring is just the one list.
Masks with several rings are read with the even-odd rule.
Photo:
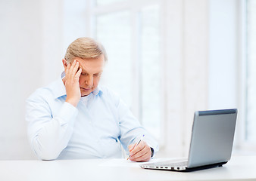
[[87, 96], [98, 87], [105, 62], [108, 60], [105, 48], [92, 38], [77, 38], [68, 46], [62, 60], [65, 70], [73, 60], [77, 60], [82, 69], [79, 80], [81, 96]]

